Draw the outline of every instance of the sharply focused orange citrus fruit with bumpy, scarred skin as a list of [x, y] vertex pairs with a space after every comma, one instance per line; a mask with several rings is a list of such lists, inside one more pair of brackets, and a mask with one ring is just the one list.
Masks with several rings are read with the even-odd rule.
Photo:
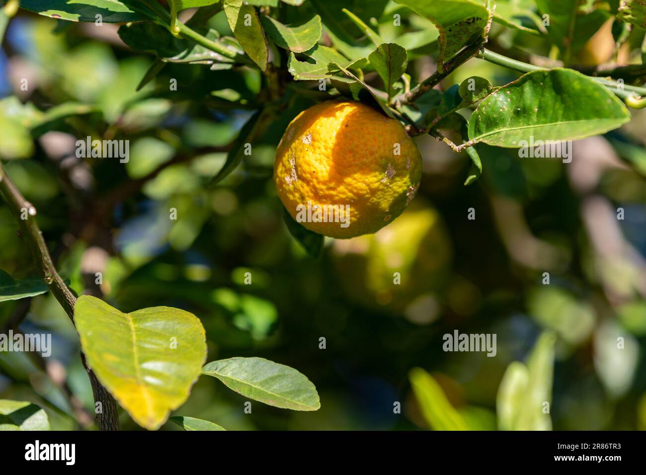
[[422, 157], [399, 121], [328, 101], [291, 121], [274, 164], [276, 191], [302, 226], [334, 238], [375, 233], [417, 193]]

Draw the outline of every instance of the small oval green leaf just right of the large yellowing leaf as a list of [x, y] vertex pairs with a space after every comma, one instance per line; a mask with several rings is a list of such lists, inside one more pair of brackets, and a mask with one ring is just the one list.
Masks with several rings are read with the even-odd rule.
[[270, 406], [318, 410], [315, 386], [294, 368], [264, 358], [229, 358], [213, 361], [202, 374], [214, 376], [227, 387]]

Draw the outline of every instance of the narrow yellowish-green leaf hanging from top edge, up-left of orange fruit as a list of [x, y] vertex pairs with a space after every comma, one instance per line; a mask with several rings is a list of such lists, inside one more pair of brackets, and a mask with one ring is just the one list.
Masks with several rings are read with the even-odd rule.
[[224, 0], [224, 12], [229, 22], [229, 28], [233, 31], [233, 36], [240, 42], [240, 46], [260, 70], [266, 70], [269, 45], [267, 45], [267, 38], [260, 25], [256, 9], [253, 5], [243, 3], [242, 0]]

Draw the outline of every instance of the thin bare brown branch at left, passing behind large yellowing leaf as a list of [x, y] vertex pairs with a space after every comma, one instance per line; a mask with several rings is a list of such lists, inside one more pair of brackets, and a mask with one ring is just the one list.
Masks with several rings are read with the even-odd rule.
[[[45, 243], [45, 239], [43, 239], [43, 233], [36, 222], [36, 208], [21, 195], [16, 185], [14, 185], [14, 182], [5, 173], [1, 162], [0, 193], [5, 196], [7, 206], [22, 228], [23, 237], [25, 237], [26, 244], [41, 269], [45, 284], [47, 284], [49, 290], [54, 294], [59, 304], [61, 304], [67, 316], [70, 317], [70, 320], [74, 322], [74, 304], [76, 304], [76, 297], [74, 297], [72, 291], [65, 285], [65, 282], [63, 282], [63, 279], [61, 279], [61, 276], [54, 267], [54, 262], [52, 262], [47, 244]], [[94, 401], [100, 402], [103, 406], [102, 412], [96, 414], [96, 423], [99, 430], [118, 430], [119, 419], [114, 398], [99, 383], [98, 379], [96, 379], [94, 372], [85, 363], [83, 354], [81, 354], [81, 358], [83, 359], [85, 370], [90, 377], [90, 383], [92, 383]]]

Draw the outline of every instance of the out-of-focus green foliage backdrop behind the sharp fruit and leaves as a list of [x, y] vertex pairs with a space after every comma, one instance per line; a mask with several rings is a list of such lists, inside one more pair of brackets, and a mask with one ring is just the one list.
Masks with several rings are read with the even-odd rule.
[[[390, 17], [375, 20], [385, 39]], [[222, 13], [209, 25], [231, 34]], [[437, 30], [408, 13], [404, 27], [408, 72], [425, 78], [435, 69], [428, 54], [437, 45], [428, 38]], [[468, 187], [465, 154], [416, 138], [424, 176], [410, 208], [376, 235], [326, 240], [314, 259], [287, 232], [271, 175], [282, 132], [314, 103], [317, 84], [288, 87], [286, 106], [253, 154], [211, 185], [255, 110], [260, 73], [169, 63], [136, 92], [152, 59], [126, 47], [116, 29], [21, 11], [0, 52], [0, 154], [36, 206], [59, 271], [76, 293], [102, 294], [121, 311], [191, 311], [207, 330], [208, 361], [266, 357], [307, 375], [321, 397], [317, 412], [254, 403], [244, 414], [242, 396], [202, 377], [174, 414], [230, 430], [429, 428], [429, 403], [419, 394], [418, 401], [409, 379], [419, 367], [450, 403], [439, 410], [452, 406], [472, 428], [500, 428], [503, 374], [550, 330], [557, 337], [552, 427], [646, 429], [646, 186], [622, 161], [646, 163], [646, 111], [631, 111], [632, 122], [618, 131], [576, 142], [571, 164], [479, 147], [483, 176]], [[643, 37], [636, 31], [628, 54]], [[490, 44], [508, 47], [511, 36], [548, 53], [533, 37], [497, 25]], [[472, 59], [441, 87], [475, 74], [494, 85], [517, 78]], [[178, 90], [169, 90], [171, 79]], [[30, 127], [36, 110], [63, 103], [74, 115]], [[77, 158], [74, 143], [86, 136], [129, 140], [129, 162]], [[177, 221], [168, 218], [171, 207]], [[471, 207], [475, 220], [467, 219]], [[0, 203], [0, 269], [16, 279], [38, 275], [16, 230]], [[0, 353], [0, 399], [33, 401], [52, 428], [78, 428], [69, 397], [92, 410], [92, 394], [76, 332], [49, 293], [0, 303], [1, 328], [25, 311], [23, 332], [52, 333], [47, 370], [67, 378], [68, 394], [34, 355]], [[444, 352], [444, 333], [456, 329], [495, 333], [497, 355]], [[124, 412], [121, 425], [139, 428]]]

